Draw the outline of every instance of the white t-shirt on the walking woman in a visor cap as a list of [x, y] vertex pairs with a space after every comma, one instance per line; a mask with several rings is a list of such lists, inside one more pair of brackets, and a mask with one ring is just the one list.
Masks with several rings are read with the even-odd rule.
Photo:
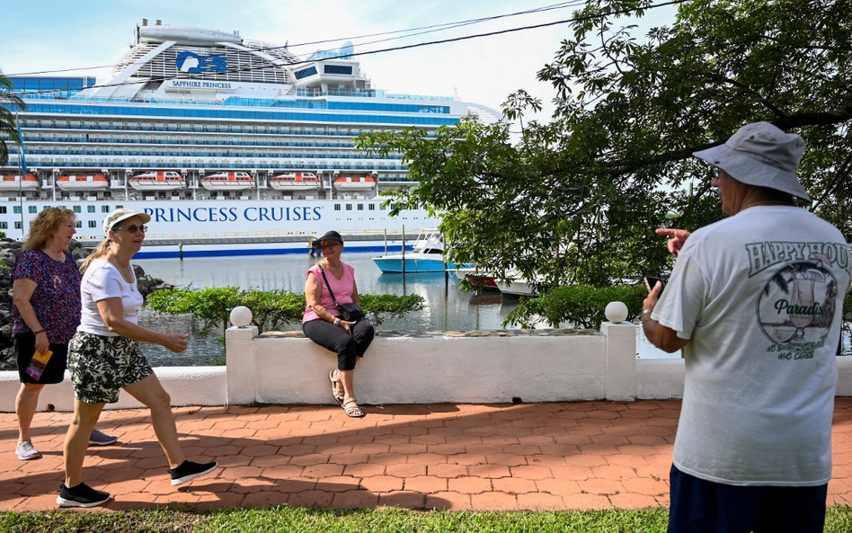
[[77, 327], [78, 332], [118, 336], [118, 333], [112, 333], [103, 323], [101, 313], [98, 311], [98, 301], [106, 298], [121, 298], [124, 317], [129, 322], [138, 324], [137, 314], [144, 300], [137, 287], [135, 272], [133, 282], [128, 283], [111, 262], [95, 259], [83, 274], [80, 293], [83, 300], [83, 313], [80, 316], [80, 325]]

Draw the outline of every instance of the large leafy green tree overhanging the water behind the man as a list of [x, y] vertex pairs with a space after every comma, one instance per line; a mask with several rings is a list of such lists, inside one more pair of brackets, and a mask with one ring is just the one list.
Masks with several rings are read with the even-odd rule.
[[[691, 154], [767, 120], [807, 140], [810, 209], [852, 235], [848, 3], [692, 0], [643, 39], [617, 26], [649, 8], [590, 0], [575, 13], [572, 37], [538, 73], [555, 88], [548, 123], [525, 123], [540, 102], [519, 90], [500, 124], [360, 138], [359, 147], [400, 155], [420, 183], [395, 191], [395, 211], [440, 213], [455, 262], [501, 277], [516, 269], [543, 289], [603, 287], [670, 268], [655, 227], [722, 217], [708, 193], [713, 170]], [[517, 142], [508, 121], [521, 127]]]

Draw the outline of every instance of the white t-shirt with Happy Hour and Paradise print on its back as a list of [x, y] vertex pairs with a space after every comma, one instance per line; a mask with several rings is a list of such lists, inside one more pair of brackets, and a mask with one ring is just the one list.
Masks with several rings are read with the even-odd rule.
[[805, 209], [763, 206], [697, 230], [652, 318], [689, 340], [673, 462], [733, 485], [820, 485], [849, 247]]

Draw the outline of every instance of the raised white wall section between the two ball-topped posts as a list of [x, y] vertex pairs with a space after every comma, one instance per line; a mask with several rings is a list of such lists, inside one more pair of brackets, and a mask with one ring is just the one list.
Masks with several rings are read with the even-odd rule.
[[[602, 357], [606, 337], [569, 339], [572, 342], [565, 342], [566, 337], [536, 336], [377, 337], [355, 369], [356, 395], [366, 404], [602, 397], [607, 385], [607, 361]], [[255, 344], [257, 402], [333, 402], [328, 372], [337, 368], [337, 356], [331, 351], [306, 338], [262, 337]], [[237, 357], [242, 360], [244, 354]]]

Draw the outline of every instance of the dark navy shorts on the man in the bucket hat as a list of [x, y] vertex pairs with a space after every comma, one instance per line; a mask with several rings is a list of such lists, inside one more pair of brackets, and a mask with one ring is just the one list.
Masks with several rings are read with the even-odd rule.
[[735, 486], [671, 466], [669, 533], [822, 533], [829, 484]]

